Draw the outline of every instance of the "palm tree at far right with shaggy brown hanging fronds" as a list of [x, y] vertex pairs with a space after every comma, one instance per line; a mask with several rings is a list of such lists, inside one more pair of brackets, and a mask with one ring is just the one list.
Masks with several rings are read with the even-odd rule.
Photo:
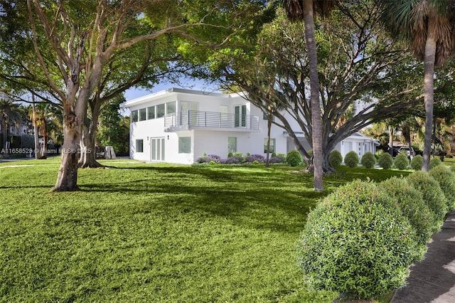
[[429, 170], [434, 105], [434, 68], [454, 52], [454, 0], [377, 0], [391, 33], [410, 41], [412, 53], [424, 61], [425, 137], [422, 171]]

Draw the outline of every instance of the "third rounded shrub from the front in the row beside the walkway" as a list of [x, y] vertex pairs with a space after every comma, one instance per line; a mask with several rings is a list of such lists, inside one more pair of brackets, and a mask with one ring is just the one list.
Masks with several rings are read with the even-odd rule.
[[437, 231], [441, 227], [442, 220], [447, 213], [447, 202], [446, 196], [439, 187], [438, 182], [424, 171], [416, 171], [413, 174], [407, 176], [407, 181], [410, 182], [414, 188], [422, 193], [424, 202], [430, 211], [433, 212], [435, 222], [435, 230]]

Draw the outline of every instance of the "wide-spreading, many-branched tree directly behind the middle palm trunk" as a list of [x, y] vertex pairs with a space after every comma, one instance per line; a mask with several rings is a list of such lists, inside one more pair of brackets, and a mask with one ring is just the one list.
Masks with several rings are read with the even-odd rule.
[[[396, 112], [406, 112], [422, 100], [416, 75], [421, 66], [400, 43], [385, 35], [380, 9], [369, 0], [339, 6], [330, 20], [321, 21], [319, 77], [323, 109], [323, 169], [330, 173], [330, 151], [354, 132]], [[289, 23], [282, 14], [263, 26], [256, 41], [245, 48], [218, 55], [215, 73], [228, 79], [232, 90], [245, 90], [255, 105], [272, 107], [274, 124], [289, 134], [307, 159], [299, 142], [303, 132], [311, 142], [311, 109], [307, 98], [309, 60], [304, 51], [303, 26]], [[253, 47], [251, 47], [253, 46]], [[441, 73], [447, 78], [449, 70]], [[271, 84], [273, 83], [273, 84]], [[453, 85], [452, 80], [441, 87]], [[240, 87], [240, 88], [239, 88]], [[257, 102], [260, 100], [260, 102]], [[282, 106], [277, 109], [276, 105]], [[291, 124], [297, 123], [296, 130]], [[298, 134], [297, 132], [300, 132]]]

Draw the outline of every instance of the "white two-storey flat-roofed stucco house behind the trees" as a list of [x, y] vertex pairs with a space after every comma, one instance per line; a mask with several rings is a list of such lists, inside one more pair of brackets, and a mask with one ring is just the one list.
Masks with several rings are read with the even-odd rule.
[[[171, 88], [128, 100], [132, 159], [193, 164], [203, 154], [226, 158], [230, 152], [265, 155], [267, 118], [238, 94]], [[298, 128], [296, 128], [298, 129]], [[282, 128], [272, 125], [271, 152], [287, 154], [295, 146]], [[309, 144], [303, 138], [304, 147]], [[336, 149], [344, 155], [375, 152], [377, 143], [355, 133]]]

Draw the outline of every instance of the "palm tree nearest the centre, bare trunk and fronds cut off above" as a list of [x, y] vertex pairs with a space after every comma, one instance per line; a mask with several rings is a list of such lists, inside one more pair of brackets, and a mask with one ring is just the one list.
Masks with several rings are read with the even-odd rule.
[[283, 0], [287, 18], [291, 21], [304, 21], [305, 41], [309, 58], [309, 78], [311, 90], [311, 145], [313, 147], [314, 189], [322, 191], [323, 152], [321, 104], [319, 102], [318, 60], [314, 33], [314, 12], [326, 15], [335, 6], [336, 0]]

